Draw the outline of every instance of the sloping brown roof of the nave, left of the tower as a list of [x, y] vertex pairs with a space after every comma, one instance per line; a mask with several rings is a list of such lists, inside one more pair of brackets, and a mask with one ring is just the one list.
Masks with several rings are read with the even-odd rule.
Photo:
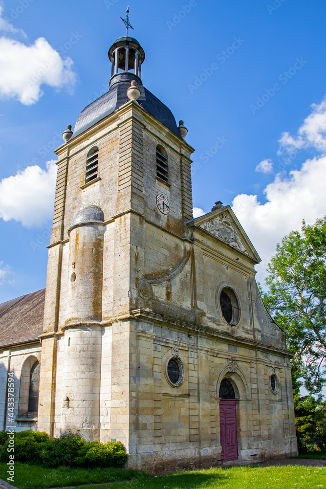
[[0, 347], [38, 339], [43, 333], [45, 289], [0, 304]]

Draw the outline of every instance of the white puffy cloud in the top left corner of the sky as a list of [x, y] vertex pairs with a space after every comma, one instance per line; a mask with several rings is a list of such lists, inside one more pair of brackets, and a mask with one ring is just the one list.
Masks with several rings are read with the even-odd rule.
[[[0, 7], [0, 30], [22, 32], [3, 19], [1, 13]], [[32, 105], [43, 95], [42, 85], [71, 91], [76, 83], [72, 64], [71, 58], [62, 59], [43, 37], [31, 45], [1, 37], [0, 98], [16, 98], [24, 105]]]

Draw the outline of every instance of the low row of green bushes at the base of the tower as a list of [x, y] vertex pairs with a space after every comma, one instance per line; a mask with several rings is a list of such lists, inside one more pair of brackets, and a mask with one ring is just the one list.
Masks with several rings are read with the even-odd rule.
[[[121, 467], [129, 455], [121, 442], [85, 442], [80, 434], [68, 431], [59, 438], [50, 439], [40, 431], [15, 433], [15, 461], [55, 468], [70, 467]], [[2, 447], [1, 447], [2, 445]], [[0, 432], [0, 462], [7, 462], [8, 435]]]

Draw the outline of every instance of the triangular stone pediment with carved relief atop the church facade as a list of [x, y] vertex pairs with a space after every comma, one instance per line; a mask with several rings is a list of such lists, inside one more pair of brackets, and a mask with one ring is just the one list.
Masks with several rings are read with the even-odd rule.
[[223, 243], [228, 244], [233, 249], [237, 249], [254, 258], [257, 263], [261, 262], [259, 254], [229, 205], [200, 216], [190, 221], [188, 225], [192, 223], [201, 227]]

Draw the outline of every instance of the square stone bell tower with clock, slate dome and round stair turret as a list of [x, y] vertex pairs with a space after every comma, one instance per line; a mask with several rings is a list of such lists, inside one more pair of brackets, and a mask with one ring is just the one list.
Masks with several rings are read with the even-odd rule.
[[38, 422], [54, 436], [121, 440], [132, 467], [142, 355], [134, 311], [162, 313], [144, 278], [184, 260], [193, 217], [194, 150], [183, 121], [144, 88], [144, 60], [136, 39], [112, 44], [109, 91], [56, 150]]

